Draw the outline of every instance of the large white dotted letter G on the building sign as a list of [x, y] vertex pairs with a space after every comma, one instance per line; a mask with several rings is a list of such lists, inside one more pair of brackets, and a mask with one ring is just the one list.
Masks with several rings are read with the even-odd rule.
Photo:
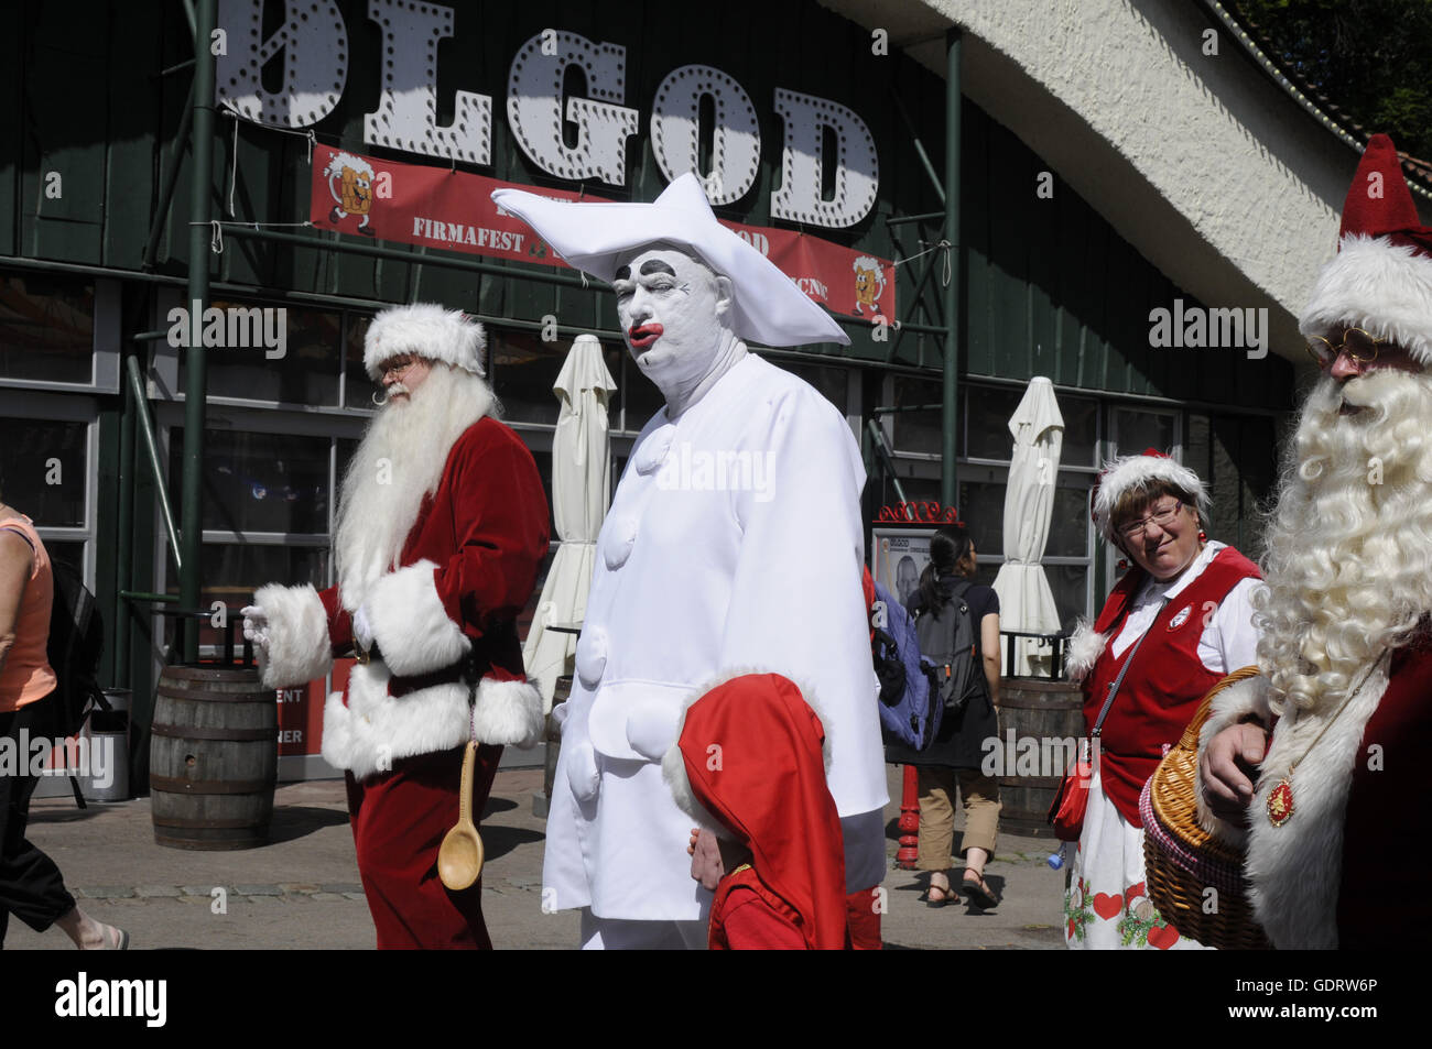
[[[569, 147], [561, 140], [561, 82], [571, 63], [587, 74], [591, 97], [567, 99], [567, 119], [577, 123], [577, 145]], [[524, 43], [507, 77], [507, 120], [517, 143], [533, 163], [564, 179], [626, 185], [626, 140], [636, 135], [637, 112], [620, 104], [624, 99], [626, 47], [566, 30]]]

